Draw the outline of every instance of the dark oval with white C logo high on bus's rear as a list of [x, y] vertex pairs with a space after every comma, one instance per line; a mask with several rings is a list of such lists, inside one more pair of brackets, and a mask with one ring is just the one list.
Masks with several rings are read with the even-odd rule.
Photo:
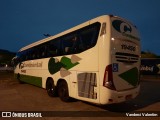
[[131, 33], [132, 32], [132, 27], [121, 20], [114, 20], [112, 22], [113, 27], [120, 33]]

